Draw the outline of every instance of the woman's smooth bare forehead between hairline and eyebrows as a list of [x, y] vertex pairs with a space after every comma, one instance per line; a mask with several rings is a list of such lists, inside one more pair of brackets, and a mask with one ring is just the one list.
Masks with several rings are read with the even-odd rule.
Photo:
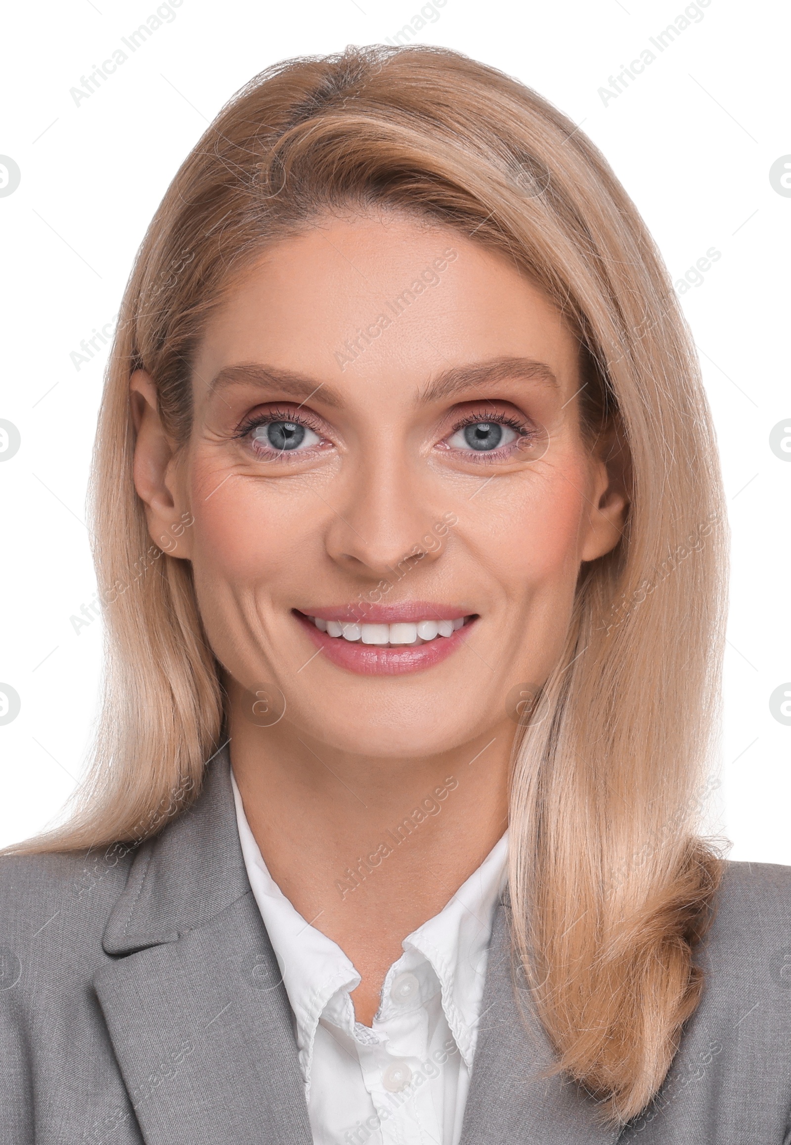
[[266, 364], [349, 396], [413, 397], [474, 363], [528, 358], [562, 387], [578, 342], [540, 289], [469, 237], [398, 215], [323, 219], [282, 239], [234, 284], [196, 358], [221, 372]]

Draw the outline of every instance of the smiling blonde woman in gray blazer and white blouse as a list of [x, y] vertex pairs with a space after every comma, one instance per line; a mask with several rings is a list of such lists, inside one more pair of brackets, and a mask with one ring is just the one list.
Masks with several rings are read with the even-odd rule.
[[95, 510], [6, 1139], [791, 1139], [791, 881], [696, 835], [713, 432], [580, 131], [440, 49], [254, 79], [141, 248]]

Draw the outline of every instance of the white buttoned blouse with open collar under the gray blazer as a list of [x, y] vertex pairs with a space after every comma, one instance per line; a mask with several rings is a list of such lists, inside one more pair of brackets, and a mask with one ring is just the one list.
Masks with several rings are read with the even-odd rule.
[[232, 784], [250, 885], [293, 1011], [315, 1145], [458, 1145], [507, 832], [440, 914], [404, 939], [373, 1022], [363, 1026], [349, 997], [359, 974], [272, 881]]

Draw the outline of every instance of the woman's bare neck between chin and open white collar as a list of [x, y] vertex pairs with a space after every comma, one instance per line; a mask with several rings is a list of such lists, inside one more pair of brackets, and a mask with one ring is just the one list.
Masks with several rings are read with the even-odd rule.
[[436, 915], [507, 826], [513, 725], [441, 755], [350, 755], [231, 700], [234, 775], [267, 867], [296, 910], [348, 955], [375, 1012], [403, 939]]

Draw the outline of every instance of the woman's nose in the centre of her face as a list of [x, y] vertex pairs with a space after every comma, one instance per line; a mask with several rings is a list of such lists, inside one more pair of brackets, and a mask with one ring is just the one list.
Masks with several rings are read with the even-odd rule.
[[[391, 457], [359, 460], [355, 473], [327, 496], [333, 510], [326, 532], [330, 558], [364, 578], [400, 576], [417, 564], [433, 563], [441, 544], [435, 526], [448, 506], [430, 497], [409, 466]], [[340, 496], [339, 496], [340, 495]]]

